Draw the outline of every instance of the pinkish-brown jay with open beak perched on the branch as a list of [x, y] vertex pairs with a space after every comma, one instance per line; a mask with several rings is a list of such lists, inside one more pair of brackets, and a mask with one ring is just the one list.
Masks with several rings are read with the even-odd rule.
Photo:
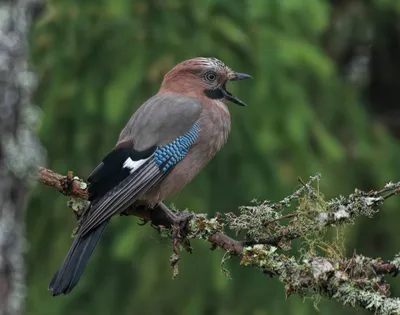
[[134, 112], [115, 147], [89, 175], [90, 206], [50, 281], [53, 296], [69, 294], [77, 285], [113, 216], [138, 201], [149, 211], [160, 205], [165, 210], [163, 200], [225, 145], [231, 129], [228, 102], [247, 106], [226, 84], [249, 78], [215, 57], [182, 61], [165, 74], [158, 92]]

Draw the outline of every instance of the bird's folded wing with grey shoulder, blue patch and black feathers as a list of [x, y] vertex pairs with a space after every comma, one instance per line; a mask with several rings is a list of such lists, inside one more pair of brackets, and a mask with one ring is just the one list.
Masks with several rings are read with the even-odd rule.
[[91, 209], [78, 235], [121, 213], [160, 182], [195, 143], [200, 113], [201, 104], [193, 98], [157, 95], [144, 103], [90, 174]]

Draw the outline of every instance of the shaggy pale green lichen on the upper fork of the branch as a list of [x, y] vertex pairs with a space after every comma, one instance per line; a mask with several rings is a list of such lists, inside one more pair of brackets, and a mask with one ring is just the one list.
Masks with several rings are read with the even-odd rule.
[[[324, 253], [327, 257], [340, 259], [345, 252], [344, 227], [353, 224], [357, 216], [372, 217], [384, 199], [356, 189], [348, 198], [326, 201], [319, 191], [319, 179], [319, 174], [311, 177], [308, 183], [303, 183], [295, 193], [278, 203], [264, 201], [240, 207], [239, 215], [226, 214], [227, 225], [237, 234], [244, 231], [246, 240], [252, 243], [281, 234], [278, 245], [284, 250], [291, 248], [290, 235], [300, 236], [303, 258]], [[399, 187], [400, 183], [386, 185], [387, 191]], [[296, 210], [285, 225], [280, 220], [285, 217], [282, 211], [294, 200], [297, 201]], [[332, 227], [335, 231], [328, 238], [328, 228]]]

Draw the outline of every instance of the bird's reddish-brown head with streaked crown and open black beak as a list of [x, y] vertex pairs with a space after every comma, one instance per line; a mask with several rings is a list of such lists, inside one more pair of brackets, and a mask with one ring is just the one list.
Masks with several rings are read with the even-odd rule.
[[252, 77], [233, 71], [216, 58], [198, 57], [185, 60], [169, 71], [164, 77], [161, 90], [246, 106], [226, 89], [226, 84], [228, 81], [248, 78]]

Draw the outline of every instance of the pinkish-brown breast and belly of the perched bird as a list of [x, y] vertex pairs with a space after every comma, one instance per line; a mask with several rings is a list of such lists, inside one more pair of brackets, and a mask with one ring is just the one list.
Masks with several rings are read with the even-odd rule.
[[217, 100], [204, 103], [199, 118], [200, 131], [197, 141], [165, 179], [142, 198], [147, 200], [149, 205], [153, 206], [179, 192], [226, 143], [231, 127], [226, 105]]

